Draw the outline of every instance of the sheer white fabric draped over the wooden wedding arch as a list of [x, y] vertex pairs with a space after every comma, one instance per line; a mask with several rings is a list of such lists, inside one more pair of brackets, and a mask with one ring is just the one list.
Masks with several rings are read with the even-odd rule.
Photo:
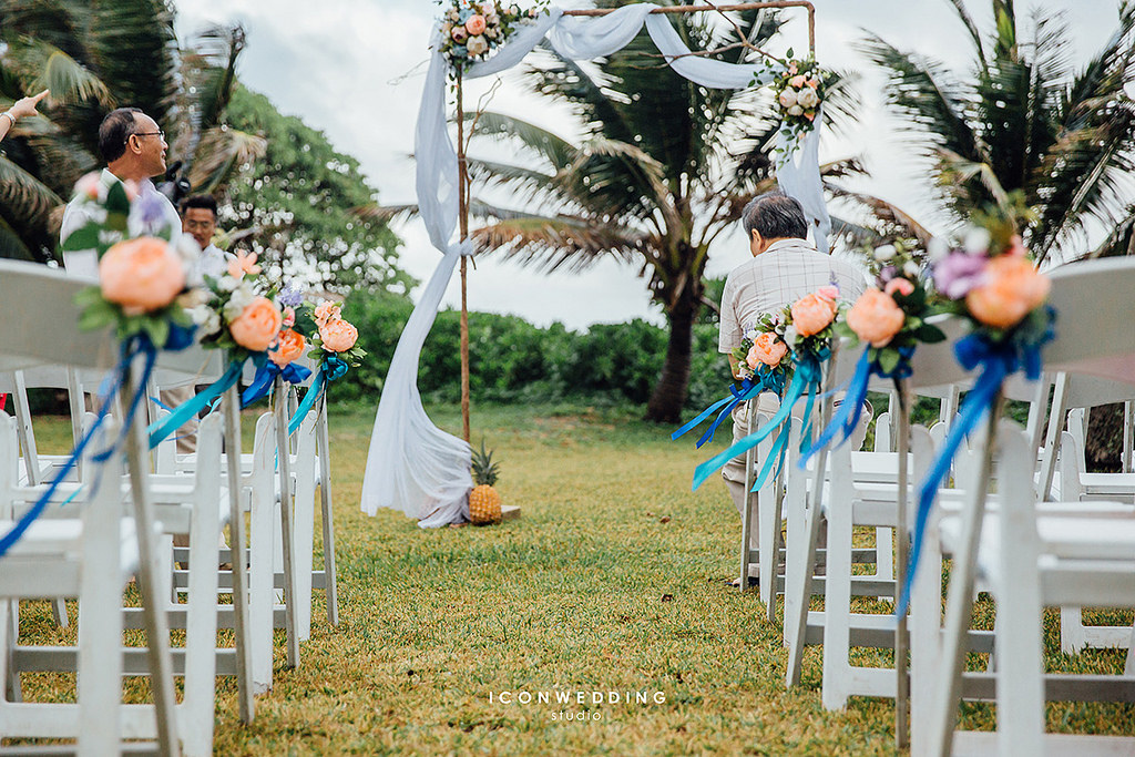
[[[770, 75], [757, 65], [690, 56], [670, 20], [663, 15], [649, 15], [656, 7], [653, 3], [623, 6], [596, 18], [564, 17], [563, 10], [553, 8], [513, 34], [490, 60], [471, 66], [464, 77], [473, 79], [507, 70], [544, 39], [560, 54], [573, 60], [609, 56], [633, 40], [645, 24], [671, 68], [701, 86], [735, 90], [768, 81]], [[439, 43], [439, 32], [435, 32], [426, 91], [418, 111], [414, 157], [419, 213], [430, 242], [443, 258], [398, 339], [375, 419], [362, 487], [363, 512], [372, 515], [379, 507], [401, 510], [418, 519], [423, 528], [462, 520], [468, 514], [466, 494], [472, 486], [469, 445], [436, 428], [418, 394], [422, 344], [437, 317], [457, 259], [469, 252], [468, 244], [452, 242], [457, 226], [457, 153], [446, 124], [448, 65]], [[817, 246], [826, 249], [826, 229], [831, 222], [819, 185], [818, 121], [819, 116], [816, 129], [800, 145], [799, 159], [789, 155], [783, 159], [789, 184], [781, 178], [781, 186], [800, 200], [813, 220]], [[815, 166], [815, 180], [805, 175], [812, 166]], [[814, 193], [814, 196], [804, 193]]]

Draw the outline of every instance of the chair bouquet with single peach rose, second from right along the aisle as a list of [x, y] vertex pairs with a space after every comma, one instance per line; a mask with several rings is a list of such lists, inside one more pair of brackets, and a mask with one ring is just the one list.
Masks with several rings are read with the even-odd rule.
[[866, 342], [868, 360], [892, 376], [918, 344], [945, 339], [926, 319], [936, 312], [924, 277], [924, 254], [899, 239], [868, 251], [875, 286], [864, 292], [839, 325], [840, 336]]

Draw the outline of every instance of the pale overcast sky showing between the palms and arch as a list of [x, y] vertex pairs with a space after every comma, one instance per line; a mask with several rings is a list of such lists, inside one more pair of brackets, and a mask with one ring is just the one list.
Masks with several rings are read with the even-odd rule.
[[[561, 0], [558, 5], [578, 8], [590, 3]], [[883, 112], [878, 94], [882, 79], [854, 45], [871, 32], [900, 49], [918, 50], [962, 67], [972, 49], [965, 28], [948, 0], [814, 0], [814, 5], [817, 59], [829, 67], [865, 74], [858, 124], [839, 138], [827, 135], [821, 159], [863, 157], [872, 176], [857, 188], [909, 209], [933, 228], [926, 183], [919, 178], [925, 167], [911, 158], [897, 124]], [[990, 2], [967, 0], [966, 5], [989, 30]], [[1037, 7], [1065, 14], [1074, 33], [1077, 61], [1099, 50], [1118, 20], [1116, 0], [1018, 2], [1018, 16], [1024, 18]], [[183, 42], [207, 24], [243, 23], [249, 43], [239, 64], [241, 81], [268, 95], [283, 112], [323, 131], [337, 150], [358, 158], [384, 203], [414, 201], [409, 155], [426, 78], [429, 34], [439, 14], [435, 0], [178, 0], [177, 8]], [[797, 51], [806, 49], [804, 12], [799, 12], [800, 20], [785, 28], [781, 50], [789, 45]], [[488, 86], [479, 84], [476, 90], [470, 87], [471, 102]], [[570, 113], [526, 92], [514, 74], [503, 77], [490, 107], [575, 136]], [[405, 242], [400, 264], [424, 280], [439, 253], [429, 245], [420, 221], [407, 221], [396, 229]], [[742, 235], [723, 237], [712, 250], [708, 274], [724, 276], [747, 254]], [[544, 275], [516, 263], [481, 260], [470, 276], [470, 308], [516, 313], [538, 325], [558, 320], [575, 329], [636, 317], [661, 323], [661, 310], [649, 303], [636, 271], [605, 262], [582, 275]], [[444, 305], [455, 306], [459, 296], [454, 277]]]

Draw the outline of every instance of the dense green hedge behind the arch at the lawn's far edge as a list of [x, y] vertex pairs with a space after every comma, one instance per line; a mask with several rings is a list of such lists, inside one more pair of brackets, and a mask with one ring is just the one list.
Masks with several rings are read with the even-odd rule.
[[[355, 293], [343, 316], [359, 328], [364, 364], [336, 382], [337, 399], [376, 401], [412, 305], [390, 295]], [[446, 310], [426, 339], [418, 388], [427, 402], [461, 396], [461, 313]], [[599, 323], [586, 334], [562, 323], [538, 328], [516, 316], [469, 314], [473, 401], [588, 399], [645, 404], [662, 372], [666, 333], [641, 319]], [[717, 328], [699, 325], [688, 405], [705, 407], [726, 390], [729, 369], [717, 354]]]

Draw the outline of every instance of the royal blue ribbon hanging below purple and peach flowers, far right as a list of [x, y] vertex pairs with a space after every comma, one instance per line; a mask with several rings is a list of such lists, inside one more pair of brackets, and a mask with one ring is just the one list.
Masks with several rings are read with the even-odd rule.
[[981, 367], [982, 372], [978, 375], [974, 388], [969, 390], [965, 402], [961, 403], [958, 419], [950, 428], [950, 432], [942, 444], [942, 449], [919, 488], [918, 513], [915, 519], [915, 532], [910, 546], [910, 562], [907, 567], [906, 583], [899, 597], [899, 605], [896, 608], [897, 614], [906, 613], [910, 603], [910, 588], [914, 586], [915, 572], [918, 569], [918, 557], [922, 553], [923, 539], [926, 536], [926, 523], [930, 521], [934, 497], [950, 472], [950, 463], [953, 461], [958, 447], [961, 446], [961, 440], [981, 423], [993, 404], [993, 398], [997, 397], [1009, 376], [1024, 369], [1025, 377], [1029, 381], [1035, 381], [1041, 377], [1041, 347], [1056, 336], [1051, 323], [1052, 311], [1049, 309], [1048, 327], [1040, 335], [1035, 335], [1031, 342], [1020, 338], [994, 342], [986, 334], [977, 331], [953, 345], [953, 354], [962, 368], [974, 370]]

